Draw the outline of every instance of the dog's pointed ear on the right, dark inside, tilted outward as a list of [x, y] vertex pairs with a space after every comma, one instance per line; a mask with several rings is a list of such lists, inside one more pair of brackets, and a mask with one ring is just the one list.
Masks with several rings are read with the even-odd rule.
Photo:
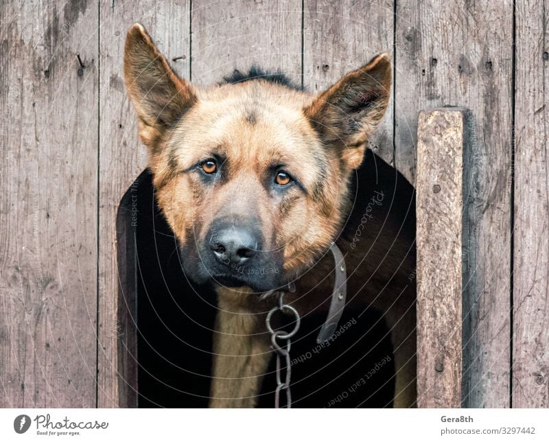
[[366, 139], [385, 114], [390, 78], [390, 57], [380, 54], [347, 73], [303, 110], [323, 142], [339, 148], [351, 169], [362, 163]]

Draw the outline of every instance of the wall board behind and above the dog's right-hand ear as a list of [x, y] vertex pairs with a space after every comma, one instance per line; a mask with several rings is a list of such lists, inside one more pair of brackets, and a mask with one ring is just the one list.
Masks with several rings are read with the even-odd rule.
[[[393, 0], [305, 0], [304, 4], [303, 84], [312, 93], [327, 89], [377, 54], [386, 52], [393, 58]], [[368, 147], [394, 164], [392, 98]]]

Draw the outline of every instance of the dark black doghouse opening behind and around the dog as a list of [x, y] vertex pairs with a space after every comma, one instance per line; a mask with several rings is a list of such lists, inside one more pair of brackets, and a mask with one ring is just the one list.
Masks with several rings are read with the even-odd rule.
[[[355, 183], [357, 200], [371, 198], [373, 180], [388, 194], [397, 181], [404, 182], [368, 151]], [[404, 185], [413, 198], [412, 187]], [[207, 407], [215, 293], [185, 277], [148, 170], [121, 200], [117, 246], [120, 406]], [[323, 321], [325, 313], [305, 316], [292, 340], [292, 407], [392, 406], [393, 349], [382, 316], [347, 307], [340, 333], [321, 346], [316, 336]], [[259, 407], [274, 404], [274, 362], [264, 377]]]

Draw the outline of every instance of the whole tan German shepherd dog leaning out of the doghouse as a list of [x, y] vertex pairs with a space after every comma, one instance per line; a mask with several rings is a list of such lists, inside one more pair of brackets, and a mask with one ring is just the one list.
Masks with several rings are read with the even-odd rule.
[[327, 308], [332, 242], [345, 257], [351, 301], [383, 312], [390, 329], [393, 405], [415, 406], [415, 226], [406, 210], [386, 216], [391, 205], [409, 209], [410, 198], [377, 195], [376, 216], [351, 201], [366, 141], [388, 104], [389, 56], [317, 96], [283, 75], [233, 75], [197, 89], [137, 23], [126, 38], [124, 76], [185, 274], [211, 282], [218, 295], [210, 406], [256, 405], [272, 357], [271, 294], [294, 282], [285, 303], [301, 316]]

